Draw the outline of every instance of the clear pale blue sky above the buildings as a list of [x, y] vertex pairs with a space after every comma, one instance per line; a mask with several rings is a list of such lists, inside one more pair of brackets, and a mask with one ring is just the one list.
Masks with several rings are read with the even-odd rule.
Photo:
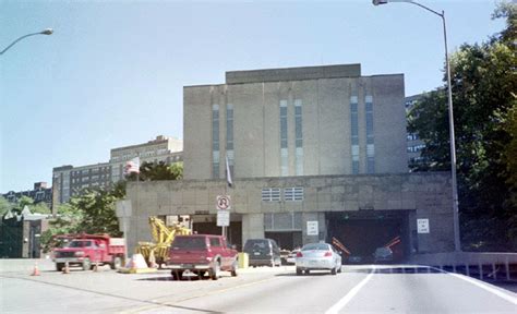
[[[448, 51], [504, 28], [496, 1], [420, 0], [445, 11]], [[183, 137], [183, 86], [225, 72], [361, 63], [404, 73], [406, 96], [443, 85], [440, 16], [409, 3], [0, 0], [0, 193], [51, 184], [52, 168]]]

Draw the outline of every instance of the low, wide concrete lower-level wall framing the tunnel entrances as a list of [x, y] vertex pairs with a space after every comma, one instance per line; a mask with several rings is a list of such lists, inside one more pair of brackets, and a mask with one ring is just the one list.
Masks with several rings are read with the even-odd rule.
[[[263, 201], [262, 189], [304, 186], [303, 201]], [[216, 215], [216, 196], [231, 196], [230, 215], [242, 217], [242, 242], [264, 238], [267, 215], [300, 215], [303, 243], [326, 240], [328, 213], [408, 213], [410, 241], [419, 253], [454, 250], [450, 177], [446, 172], [376, 176], [308, 176], [241, 179], [235, 189], [221, 180], [129, 182], [132, 203], [129, 250], [152, 241], [149, 216]], [[430, 221], [430, 233], [417, 232], [417, 219]], [[320, 234], [306, 234], [306, 221], [318, 221]]]

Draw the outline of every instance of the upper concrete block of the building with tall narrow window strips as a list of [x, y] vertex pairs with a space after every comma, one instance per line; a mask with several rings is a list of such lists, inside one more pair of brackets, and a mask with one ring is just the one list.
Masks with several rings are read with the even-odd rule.
[[[358, 107], [358, 173], [368, 173], [366, 99], [373, 102], [374, 171], [370, 173], [408, 171], [402, 74], [361, 76], [360, 65], [352, 64], [228, 72], [227, 81], [183, 89], [185, 180], [225, 176], [228, 105], [233, 108], [235, 178], [352, 174], [352, 97]], [[281, 101], [287, 105], [288, 170], [284, 173]], [[297, 101], [302, 108], [301, 147], [296, 144]], [[214, 106], [219, 108], [217, 134], [213, 134]], [[217, 171], [213, 170], [214, 138], [220, 146]], [[296, 165], [298, 148], [301, 171]]]

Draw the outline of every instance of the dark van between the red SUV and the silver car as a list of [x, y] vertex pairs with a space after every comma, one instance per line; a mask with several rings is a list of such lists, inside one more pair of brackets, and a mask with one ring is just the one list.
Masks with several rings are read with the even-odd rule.
[[250, 257], [250, 266], [280, 266], [280, 249], [273, 239], [249, 239], [244, 253]]

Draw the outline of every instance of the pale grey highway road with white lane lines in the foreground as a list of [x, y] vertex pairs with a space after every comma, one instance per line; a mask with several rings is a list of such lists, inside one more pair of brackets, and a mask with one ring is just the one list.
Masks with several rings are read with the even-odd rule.
[[260, 267], [216, 281], [17, 267], [0, 263], [2, 313], [517, 313], [515, 292], [425, 267], [344, 266], [336, 276]]

